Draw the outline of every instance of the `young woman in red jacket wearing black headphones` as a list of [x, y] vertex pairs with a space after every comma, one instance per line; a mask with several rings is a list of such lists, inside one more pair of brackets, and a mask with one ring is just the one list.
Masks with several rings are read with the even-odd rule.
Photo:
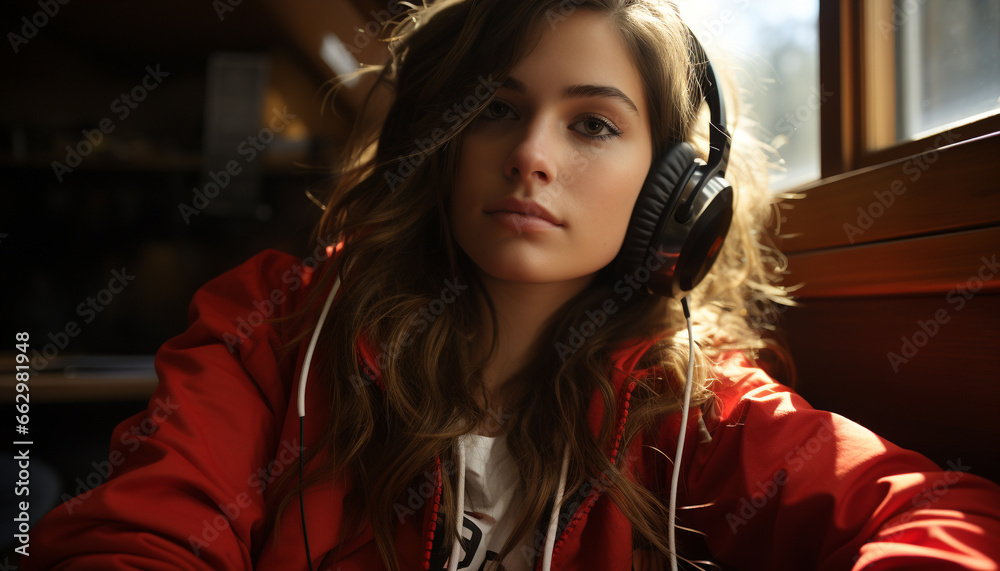
[[[26, 568], [997, 568], [1000, 488], [775, 382], [762, 153], [699, 116], [717, 84], [672, 6], [447, 0], [395, 32], [330, 247], [195, 295]], [[682, 142], [735, 194], [693, 167], [646, 232], [718, 239], [643, 246]]]

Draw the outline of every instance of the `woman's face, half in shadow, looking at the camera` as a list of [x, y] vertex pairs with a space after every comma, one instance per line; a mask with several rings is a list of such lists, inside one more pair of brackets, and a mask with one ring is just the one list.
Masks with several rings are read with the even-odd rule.
[[542, 30], [463, 134], [451, 228], [493, 278], [589, 282], [621, 248], [652, 162], [647, 102], [606, 15]]

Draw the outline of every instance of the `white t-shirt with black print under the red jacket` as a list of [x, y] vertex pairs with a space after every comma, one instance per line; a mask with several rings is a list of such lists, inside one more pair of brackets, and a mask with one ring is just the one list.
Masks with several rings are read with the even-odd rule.
[[[506, 436], [468, 434], [459, 443], [465, 448], [465, 526], [458, 568], [500, 569], [484, 564], [496, 560], [521, 515], [515, 495], [517, 466], [507, 450]], [[531, 571], [534, 560], [528, 561], [524, 555], [528, 550], [522, 549], [530, 537], [529, 533], [508, 555], [505, 571]]]

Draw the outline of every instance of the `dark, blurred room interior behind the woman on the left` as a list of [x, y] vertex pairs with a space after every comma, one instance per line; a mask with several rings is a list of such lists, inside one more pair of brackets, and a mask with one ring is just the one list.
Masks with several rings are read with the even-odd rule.
[[[0, 6], [0, 408], [10, 427], [28, 332], [32, 522], [103, 481], [111, 430], [146, 407], [152, 355], [186, 328], [199, 286], [266, 248], [314, 249], [306, 192], [333, 183], [367, 86], [324, 100], [320, 46], [333, 34], [381, 62], [384, 44], [356, 33], [379, 4]], [[16, 499], [0, 499], [4, 568]]]

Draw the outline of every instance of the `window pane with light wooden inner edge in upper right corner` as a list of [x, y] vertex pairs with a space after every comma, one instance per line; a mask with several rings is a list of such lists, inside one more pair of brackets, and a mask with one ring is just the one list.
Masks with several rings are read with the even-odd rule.
[[878, 0], [863, 18], [868, 150], [1000, 111], [996, 0]]

